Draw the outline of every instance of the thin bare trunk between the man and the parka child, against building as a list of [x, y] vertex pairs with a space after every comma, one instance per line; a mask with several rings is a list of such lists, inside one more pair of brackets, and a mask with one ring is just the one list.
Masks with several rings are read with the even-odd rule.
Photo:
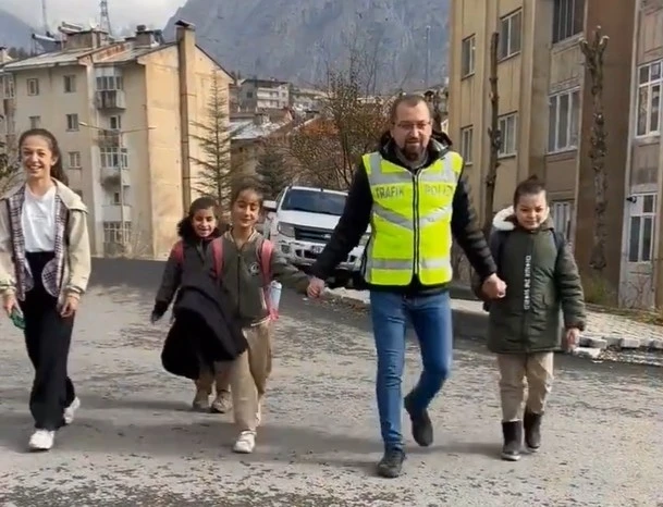
[[498, 51], [500, 47], [500, 34], [494, 32], [490, 38], [490, 127], [488, 138], [490, 139], [490, 160], [488, 173], [486, 174], [486, 201], [483, 203], [483, 234], [489, 237], [492, 228], [493, 206], [495, 200], [495, 184], [498, 181], [498, 168], [500, 166], [500, 148], [502, 147], [502, 133], [500, 132], [500, 92], [498, 86]]

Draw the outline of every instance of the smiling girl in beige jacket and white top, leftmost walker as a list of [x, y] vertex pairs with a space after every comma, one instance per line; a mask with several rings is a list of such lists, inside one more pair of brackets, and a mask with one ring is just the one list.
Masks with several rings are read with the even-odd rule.
[[45, 129], [19, 141], [25, 182], [0, 199], [0, 294], [35, 368], [32, 450], [49, 450], [81, 405], [67, 375], [74, 316], [90, 273], [87, 209], [66, 186], [62, 153]]

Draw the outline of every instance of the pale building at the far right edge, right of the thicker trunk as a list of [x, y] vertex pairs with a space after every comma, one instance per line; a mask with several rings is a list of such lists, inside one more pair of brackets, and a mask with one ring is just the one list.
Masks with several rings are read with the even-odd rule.
[[[663, 1], [636, 2], [621, 299], [663, 307]], [[616, 181], [614, 184], [618, 184]]]

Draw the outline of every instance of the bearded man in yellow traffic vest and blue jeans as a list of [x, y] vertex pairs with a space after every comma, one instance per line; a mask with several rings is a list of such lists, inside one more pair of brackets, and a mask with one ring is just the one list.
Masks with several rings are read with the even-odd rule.
[[[365, 154], [355, 172], [343, 217], [311, 267], [308, 295], [322, 294], [324, 280], [359, 244], [370, 224], [361, 269], [370, 289], [378, 355], [377, 396], [384, 442], [378, 473], [395, 478], [405, 459], [402, 404], [417, 444], [432, 444], [428, 406], [451, 370], [452, 238], [481, 277], [487, 296], [501, 298], [506, 286], [496, 275], [477, 223], [463, 175], [463, 158], [442, 139], [435, 139], [423, 97], [398, 97], [390, 120], [391, 128], [381, 139], [380, 149]], [[407, 320], [419, 339], [423, 371], [403, 400]]]

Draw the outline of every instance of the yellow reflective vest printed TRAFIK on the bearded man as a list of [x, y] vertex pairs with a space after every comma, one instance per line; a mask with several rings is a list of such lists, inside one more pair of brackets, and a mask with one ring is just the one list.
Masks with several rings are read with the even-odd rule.
[[364, 156], [373, 198], [365, 279], [371, 285], [451, 282], [451, 217], [463, 158], [446, 151], [416, 175], [382, 158]]

